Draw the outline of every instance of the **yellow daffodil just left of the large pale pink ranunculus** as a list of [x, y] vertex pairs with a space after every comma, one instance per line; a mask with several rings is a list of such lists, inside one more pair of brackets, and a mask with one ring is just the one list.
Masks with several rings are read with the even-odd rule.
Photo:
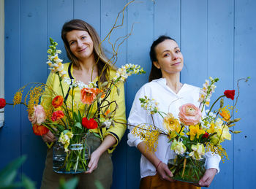
[[182, 131], [184, 130], [184, 127], [181, 128], [181, 123], [179, 123], [178, 119], [173, 117], [171, 113], [168, 113], [167, 116], [164, 118], [163, 122], [164, 128], [169, 131], [169, 138], [172, 139], [173, 137], [176, 137], [177, 134], [184, 135]]

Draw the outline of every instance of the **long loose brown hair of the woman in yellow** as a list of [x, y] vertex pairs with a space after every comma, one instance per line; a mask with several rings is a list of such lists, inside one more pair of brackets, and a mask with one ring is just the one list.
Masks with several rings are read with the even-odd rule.
[[[87, 31], [88, 34], [91, 36], [91, 40], [94, 43], [94, 58], [97, 62], [97, 69], [98, 69], [98, 75], [100, 76], [99, 82], [105, 82], [108, 80], [108, 70], [112, 69], [113, 66], [110, 66], [110, 63], [108, 61], [108, 58], [105, 56], [105, 53], [102, 50], [102, 47], [100, 44], [100, 39], [97, 34], [97, 31], [89, 25], [89, 23], [86, 23], [83, 20], [74, 19], [70, 20], [67, 23], [64, 23], [64, 26], [61, 30], [61, 38], [64, 42], [65, 49], [67, 51], [67, 57], [69, 60], [75, 64], [75, 66], [80, 67], [80, 64], [78, 62], [78, 58], [71, 52], [69, 47], [69, 42], [67, 42], [67, 33], [72, 30], [80, 30], [80, 31]], [[105, 68], [107, 66], [107, 69]]]

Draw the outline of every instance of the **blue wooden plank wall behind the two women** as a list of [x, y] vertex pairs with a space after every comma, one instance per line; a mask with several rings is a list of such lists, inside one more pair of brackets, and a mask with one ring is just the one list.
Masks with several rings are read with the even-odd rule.
[[[6, 0], [5, 4], [5, 96], [27, 82], [45, 82], [48, 76], [48, 38], [61, 42], [61, 26], [80, 18], [91, 23], [103, 39], [127, 0]], [[113, 32], [111, 40], [129, 34], [121, 45], [117, 66], [137, 63], [147, 74], [132, 76], [126, 84], [127, 115], [136, 91], [147, 82], [151, 68], [149, 47], [159, 35], [172, 36], [181, 46], [186, 67], [181, 81], [201, 86], [206, 77], [219, 77], [215, 96], [236, 88], [236, 80], [251, 76], [249, 85], [241, 83], [241, 98], [235, 117], [243, 119], [236, 130], [241, 134], [225, 142], [230, 160], [220, 163], [210, 188], [253, 188], [256, 185], [255, 145], [255, 47], [256, 1], [254, 0], [143, 0], [124, 11], [124, 26]], [[120, 23], [121, 20], [118, 20]], [[104, 47], [111, 52], [110, 45]], [[64, 61], [68, 61], [65, 53]], [[110, 55], [110, 53], [107, 53]], [[231, 102], [230, 102], [231, 103]], [[39, 188], [45, 161], [45, 144], [34, 136], [23, 107], [5, 109], [5, 125], [0, 129], [0, 169], [22, 154], [28, 155], [20, 169]], [[140, 153], [127, 146], [127, 136], [113, 153], [113, 187], [138, 188]]]

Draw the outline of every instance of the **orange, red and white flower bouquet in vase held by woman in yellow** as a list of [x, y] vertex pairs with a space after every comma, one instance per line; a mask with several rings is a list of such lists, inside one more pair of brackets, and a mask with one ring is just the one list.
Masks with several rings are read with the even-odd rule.
[[[90, 158], [90, 147], [87, 144], [89, 134], [103, 139], [100, 128], [115, 126], [115, 114], [118, 109], [116, 100], [110, 101], [113, 88], [119, 93], [118, 82], [124, 82], [131, 74], [145, 73], [138, 65], [127, 64], [116, 70], [116, 76], [108, 82], [97, 84], [83, 82], [66, 77], [64, 65], [59, 58], [61, 50], [50, 38], [48, 66], [51, 74], [59, 78], [61, 94], [43, 83], [30, 83], [15, 93], [13, 105], [24, 104], [29, 113], [34, 134], [42, 136], [51, 131], [57, 139], [53, 146], [53, 170], [58, 173], [79, 173], [86, 171]], [[30, 86], [29, 92], [22, 101], [23, 90]], [[68, 85], [71, 101], [67, 100], [63, 85]], [[80, 90], [80, 100], [75, 101], [75, 90]], [[113, 93], [114, 93], [113, 92]], [[39, 99], [41, 98], [41, 104]], [[70, 99], [70, 97], [69, 97]], [[1, 99], [1, 108], [6, 104]], [[124, 123], [126, 124], [126, 123]], [[98, 131], [98, 132], [97, 132]], [[47, 143], [48, 144], [48, 143]], [[48, 144], [51, 147], [53, 143]]]

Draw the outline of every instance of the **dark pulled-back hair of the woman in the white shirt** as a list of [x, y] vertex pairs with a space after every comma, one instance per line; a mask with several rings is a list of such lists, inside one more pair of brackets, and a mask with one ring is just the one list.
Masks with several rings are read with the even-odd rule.
[[152, 80], [157, 80], [162, 77], [161, 69], [158, 69], [156, 66], [154, 66], [153, 62], [157, 61], [157, 53], [156, 53], [157, 45], [159, 45], [159, 43], [165, 41], [166, 39], [175, 41], [173, 38], [170, 38], [170, 36], [159, 36], [159, 38], [155, 40], [150, 47], [149, 55], [152, 62], [152, 66], [151, 66], [151, 72], [148, 77], [148, 82], [151, 82]]

